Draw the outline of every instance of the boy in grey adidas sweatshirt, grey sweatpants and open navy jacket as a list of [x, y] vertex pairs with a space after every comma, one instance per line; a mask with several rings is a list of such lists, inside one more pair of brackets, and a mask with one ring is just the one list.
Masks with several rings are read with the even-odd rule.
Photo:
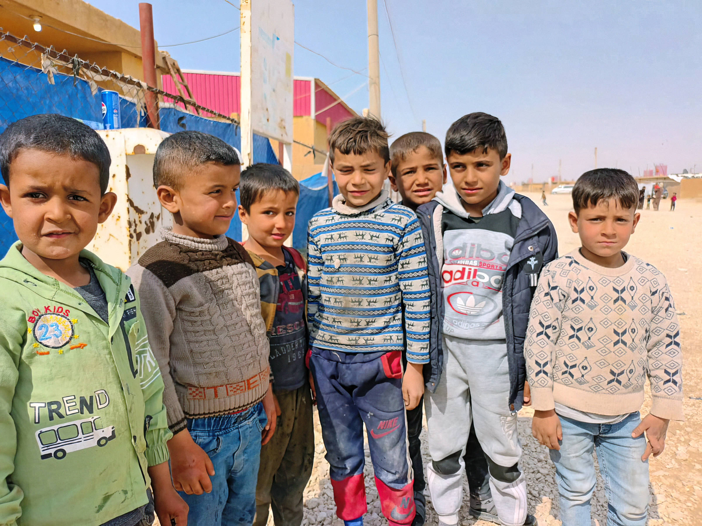
[[449, 128], [444, 147], [451, 182], [417, 210], [432, 287], [425, 397], [432, 504], [440, 523], [458, 523], [472, 422], [488, 460], [499, 520], [534, 524], [519, 471], [522, 345], [538, 272], [557, 255], [556, 235], [529, 198], [500, 180], [511, 156], [499, 119], [463, 116]]

